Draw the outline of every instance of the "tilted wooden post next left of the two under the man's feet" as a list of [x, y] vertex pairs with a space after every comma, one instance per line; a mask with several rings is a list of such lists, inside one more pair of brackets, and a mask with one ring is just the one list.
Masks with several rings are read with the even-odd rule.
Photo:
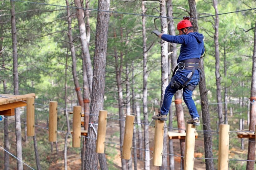
[[135, 116], [127, 115], [125, 119], [125, 135], [123, 142], [122, 159], [131, 158], [131, 146], [133, 136], [133, 125]]

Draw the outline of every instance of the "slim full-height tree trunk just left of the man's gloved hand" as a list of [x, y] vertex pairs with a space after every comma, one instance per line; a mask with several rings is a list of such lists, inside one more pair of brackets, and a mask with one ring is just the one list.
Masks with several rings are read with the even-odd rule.
[[[141, 1], [142, 4], [142, 14], [145, 15], [146, 9], [145, 9], [145, 3], [144, 1]], [[148, 81], [148, 73], [147, 73], [147, 41], [146, 41], [146, 18], [145, 16], [142, 16], [142, 39], [143, 39], [143, 117], [144, 117], [144, 123], [148, 124], [148, 87], [147, 87], [147, 81]], [[149, 148], [149, 126], [144, 126], [144, 145], [145, 150], [150, 150]], [[150, 169], [150, 152], [145, 152], [145, 164], [144, 169]]]

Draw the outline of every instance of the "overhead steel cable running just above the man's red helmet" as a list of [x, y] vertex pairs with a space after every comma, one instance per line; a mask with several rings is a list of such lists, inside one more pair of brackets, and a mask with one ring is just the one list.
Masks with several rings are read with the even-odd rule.
[[[144, 14], [136, 14], [136, 13], [128, 13], [128, 12], [116, 12], [116, 11], [106, 11], [106, 10], [98, 10], [98, 9], [90, 9], [90, 8], [79, 8], [79, 7], [72, 7], [72, 6], [62, 6], [62, 5], [54, 5], [54, 4], [47, 4], [47, 3], [40, 3], [40, 2], [30, 2], [30, 1], [20, 1], [20, 0], [10, 0], [10, 1], [33, 3], [33, 4], [39, 4], [39, 5], [49, 5], [49, 6], [55, 6], [55, 7], [69, 7], [69, 8], [75, 8], [75, 9], [90, 10], [90, 11], [101, 11], [101, 12], [110, 12], [110, 13], [118, 13], [118, 14], [137, 15], [137, 16], [145, 16], [145, 17], [171, 18], [171, 19], [180, 19], [180, 20], [183, 19], [183, 18], [162, 17], [162, 16], [144, 15]], [[238, 10], [238, 11], [232, 11], [232, 12], [225, 12], [225, 13], [220, 13], [220, 14], [196, 17], [194, 19], [205, 18], [205, 17], [213, 17], [213, 16], [217, 16], [217, 15], [225, 15], [225, 14], [231, 14], [231, 13], [243, 12], [243, 11], [249, 11], [249, 10], [255, 10], [255, 9], [256, 8], [250, 8], [250, 9], [244, 9], [244, 10]]]

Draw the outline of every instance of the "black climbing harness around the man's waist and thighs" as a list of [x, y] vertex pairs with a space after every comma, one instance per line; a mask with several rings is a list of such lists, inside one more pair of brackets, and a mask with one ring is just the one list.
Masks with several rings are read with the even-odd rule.
[[[174, 80], [174, 75], [177, 71], [182, 71], [184, 69], [188, 69], [188, 70], [191, 70], [191, 72], [186, 76], [187, 81], [183, 80], [183, 78], [181, 78], [180, 80], [183, 82], [183, 84], [180, 84], [179, 82], [176, 82]], [[175, 87], [177, 89], [182, 89], [182, 88], [186, 88], [188, 90], [191, 90], [193, 91], [197, 85], [187, 85], [190, 80], [192, 79], [193, 75], [194, 75], [194, 72], [195, 72], [195, 69], [198, 70], [199, 72], [199, 75], [200, 75], [200, 82], [201, 83], [201, 70], [200, 70], [200, 64], [199, 64], [199, 59], [196, 59], [196, 58], [193, 58], [193, 59], [186, 59], [186, 60], [183, 60], [182, 62], [179, 62], [178, 65], [176, 66], [176, 68], [174, 69], [173, 71], [173, 74], [172, 74], [172, 78], [171, 78], [171, 87]]]

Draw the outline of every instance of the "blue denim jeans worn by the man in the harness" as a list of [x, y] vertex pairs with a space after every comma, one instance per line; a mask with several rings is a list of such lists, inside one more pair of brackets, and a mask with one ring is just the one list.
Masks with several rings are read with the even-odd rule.
[[[186, 69], [184, 69], [182, 71], [178, 70], [173, 77], [174, 81], [179, 82], [180, 84], [184, 84], [180, 79], [182, 78], [184, 81], [187, 81], [188, 78], [186, 78], [186, 77], [190, 72], [191, 72], [191, 70], [186, 70]], [[190, 80], [190, 82], [187, 85], [190, 85], [190, 84], [198, 85], [199, 80], [200, 80], [199, 71], [195, 70], [192, 79]], [[163, 101], [163, 105], [162, 105], [161, 111], [160, 111], [162, 115], [167, 115], [169, 113], [169, 108], [171, 105], [172, 97], [175, 94], [175, 92], [177, 92], [178, 90], [179, 89], [176, 87], [172, 88], [171, 83], [169, 83], [169, 85], [166, 87], [164, 101]], [[184, 102], [188, 106], [190, 116], [192, 118], [195, 118], [195, 117], [199, 117], [199, 115], [196, 110], [194, 100], [192, 99], [192, 93], [193, 93], [193, 91], [183, 88], [182, 97], [183, 97]]]

